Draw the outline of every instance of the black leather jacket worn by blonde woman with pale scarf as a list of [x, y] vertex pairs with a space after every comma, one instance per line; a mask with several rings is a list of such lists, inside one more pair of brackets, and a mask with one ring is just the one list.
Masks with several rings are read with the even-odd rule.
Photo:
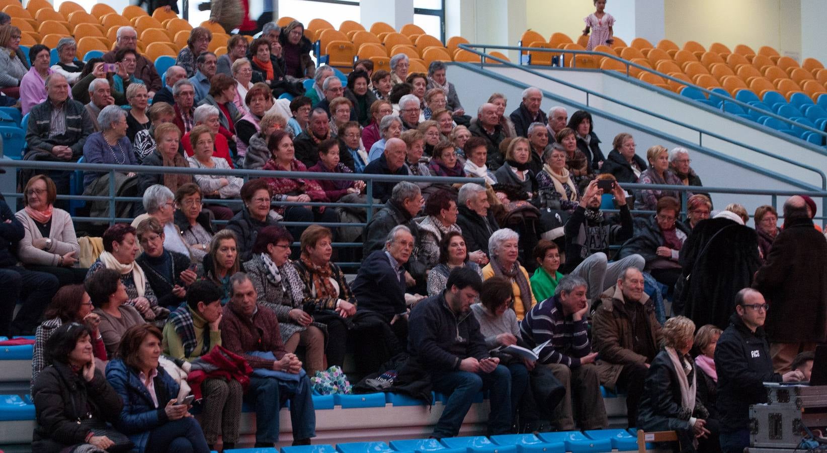
[[[695, 370], [696, 381], [703, 379], [699, 376], [702, 372], [694, 362], [692, 367]], [[646, 431], [678, 431], [681, 451], [691, 452], [695, 451], [695, 448], [692, 446], [694, 433], [689, 418], [706, 420], [710, 413], [697, 393], [694, 411], [690, 412], [681, 407], [681, 384], [678, 383], [677, 373], [683, 372], [682, 369], [675, 369], [675, 364], [665, 349], [655, 356], [649, 367], [646, 382], [643, 383], [643, 395], [638, 409], [638, 427]], [[691, 385], [691, 378], [687, 380]]]

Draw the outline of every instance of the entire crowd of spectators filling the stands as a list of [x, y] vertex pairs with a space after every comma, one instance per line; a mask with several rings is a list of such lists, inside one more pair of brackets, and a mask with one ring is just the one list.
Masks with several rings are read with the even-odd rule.
[[[22, 209], [0, 202], [0, 335], [36, 333], [42, 451], [232, 448], [245, 400], [256, 402], [256, 446], [278, 441], [286, 400], [294, 445], [307, 444], [309, 378], [344, 365], [349, 345], [360, 377], [406, 352], [428, 388], [453, 393], [433, 436], [456, 436], [480, 389], [490, 391], [490, 434], [600, 429], [603, 385], [627, 395], [629, 426], [675, 429], [686, 451], [696, 441], [718, 451], [719, 433], [737, 443], [746, 417], [715, 397], [739, 385], [715, 352], [718, 337], [734, 336], [721, 331], [762, 340], [756, 316], [767, 316], [762, 359], [789, 379], [796, 354], [825, 341], [827, 267], [816, 263], [827, 239], [813, 228], [812, 200], [787, 200], [783, 229], [761, 206], [751, 229], [743, 206], [713, 211], [685, 148], [653, 145], [643, 159], [620, 133], [605, 156], [590, 113], [546, 113], [534, 87], [513, 112], [495, 93], [472, 118], [446, 65], [409, 72], [404, 54], [390, 72], [361, 60], [343, 81], [315, 67], [303, 31], [268, 23], [249, 45], [233, 36], [217, 58], [212, 33], [196, 27], [162, 83], [132, 27], [103, 60], [76, 60], [64, 38], [57, 65], [38, 45], [30, 68], [20, 31], [0, 26], [0, 87], [29, 115], [26, 160], [146, 167], [84, 171], [85, 195], [109, 195], [113, 183], [117, 195], [142, 196], [116, 204], [136, 219], [103, 232], [88, 268], [58, 207], [70, 171], [23, 172]], [[304, 79], [312, 87], [296, 93]], [[280, 172], [250, 181], [213, 172], [233, 168]], [[621, 186], [633, 182], [693, 188]], [[370, 221], [369, 189], [380, 205]], [[333, 263], [346, 257], [360, 263], [352, 281]], [[745, 302], [758, 297], [767, 302]], [[795, 325], [801, 316], [806, 328]], [[512, 345], [542, 347], [528, 360], [503, 350]], [[200, 422], [182, 404], [189, 391]]]

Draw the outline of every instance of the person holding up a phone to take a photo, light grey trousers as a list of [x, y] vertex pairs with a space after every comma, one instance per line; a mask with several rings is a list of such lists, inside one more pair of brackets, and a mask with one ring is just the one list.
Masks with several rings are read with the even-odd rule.
[[600, 175], [591, 181], [580, 199], [580, 205], [563, 227], [566, 234], [566, 264], [560, 272], [585, 278], [589, 282], [588, 296], [591, 301], [617, 282], [624, 269], [637, 267], [643, 271], [646, 264], [646, 260], [637, 253], [609, 263], [609, 245], [631, 238], [634, 224], [626, 205], [626, 192], [617, 182], [614, 182], [612, 195], [620, 210], [620, 224], [610, 224], [605, 218], [600, 210], [600, 197], [603, 195], [603, 190], [597, 186], [600, 179], [614, 180], [614, 176]]

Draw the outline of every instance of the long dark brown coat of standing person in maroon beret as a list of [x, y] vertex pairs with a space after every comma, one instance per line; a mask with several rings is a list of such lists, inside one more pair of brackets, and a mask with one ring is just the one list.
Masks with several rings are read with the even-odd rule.
[[807, 217], [788, 218], [753, 288], [772, 307], [764, 330], [772, 342], [827, 341], [827, 239]]

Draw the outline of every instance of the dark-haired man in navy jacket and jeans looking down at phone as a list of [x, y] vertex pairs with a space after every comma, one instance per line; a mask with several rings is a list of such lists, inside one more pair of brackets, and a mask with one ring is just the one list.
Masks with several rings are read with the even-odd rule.
[[454, 268], [445, 291], [414, 306], [409, 349], [431, 374], [433, 389], [451, 395], [433, 437], [457, 436], [477, 393], [490, 390], [488, 434], [511, 428], [511, 374], [490, 357], [471, 304], [480, 295], [480, 276], [470, 267]]

